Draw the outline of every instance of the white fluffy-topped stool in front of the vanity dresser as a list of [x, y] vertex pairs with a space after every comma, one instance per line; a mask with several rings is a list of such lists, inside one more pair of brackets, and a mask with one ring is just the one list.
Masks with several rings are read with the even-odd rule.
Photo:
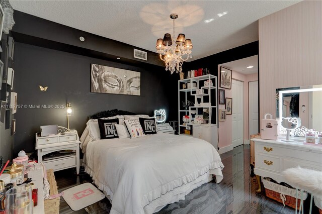
[[286, 182], [291, 186], [296, 188], [296, 208], [295, 213], [297, 213], [297, 199], [298, 199], [298, 189], [301, 189], [301, 202], [299, 213], [304, 212], [303, 208], [303, 191], [311, 193], [310, 201], [310, 211], [312, 212], [312, 199], [313, 196], [322, 197], [322, 171], [316, 171], [312, 169], [306, 169], [301, 167], [289, 168], [282, 172]]

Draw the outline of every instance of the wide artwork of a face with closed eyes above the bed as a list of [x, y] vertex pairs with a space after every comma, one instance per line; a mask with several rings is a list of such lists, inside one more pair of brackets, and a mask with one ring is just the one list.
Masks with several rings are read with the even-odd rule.
[[140, 72], [91, 64], [91, 92], [139, 96], [140, 88]]

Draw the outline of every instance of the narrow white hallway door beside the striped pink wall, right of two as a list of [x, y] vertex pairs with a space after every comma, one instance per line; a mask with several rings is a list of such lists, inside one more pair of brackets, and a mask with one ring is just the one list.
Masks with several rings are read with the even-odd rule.
[[249, 83], [249, 135], [259, 133], [258, 81]]

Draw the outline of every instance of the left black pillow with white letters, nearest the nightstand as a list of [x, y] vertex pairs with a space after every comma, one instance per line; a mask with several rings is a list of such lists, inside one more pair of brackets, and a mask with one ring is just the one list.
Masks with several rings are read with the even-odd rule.
[[114, 124], [119, 124], [119, 119], [111, 119], [111, 120], [104, 120], [104, 119], [97, 119], [100, 128], [101, 139], [112, 139], [118, 138], [116, 128]]

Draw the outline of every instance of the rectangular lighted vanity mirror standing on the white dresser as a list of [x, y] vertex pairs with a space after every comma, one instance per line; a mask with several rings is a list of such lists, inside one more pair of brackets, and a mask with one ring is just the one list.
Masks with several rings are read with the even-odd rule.
[[[286, 134], [287, 130], [297, 137], [304, 137], [307, 133], [322, 133], [322, 85], [278, 88], [276, 101], [280, 134]], [[300, 125], [292, 125], [289, 121], [292, 119], [289, 118], [297, 118]]]

